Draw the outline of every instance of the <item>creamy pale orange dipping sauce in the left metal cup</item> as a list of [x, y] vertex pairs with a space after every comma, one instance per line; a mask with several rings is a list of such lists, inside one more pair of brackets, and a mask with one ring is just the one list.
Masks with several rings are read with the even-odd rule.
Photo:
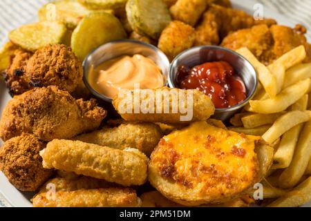
[[142, 55], [122, 56], [104, 61], [91, 68], [88, 78], [91, 86], [107, 97], [114, 97], [122, 88], [133, 90], [134, 84], [140, 84], [140, 89], [153, 89], [164, 85], [160, 68], [153, 60]]

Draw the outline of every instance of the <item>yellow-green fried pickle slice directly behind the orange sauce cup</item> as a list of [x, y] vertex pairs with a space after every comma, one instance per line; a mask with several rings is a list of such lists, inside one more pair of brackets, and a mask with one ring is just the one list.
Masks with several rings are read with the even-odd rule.
[[86, 15], [73, 31], [71, 48], [83, 61], [93, 49], [109, 41], [126, 38], [126, 32], [120, 21], [106, 12], [94, 12]]

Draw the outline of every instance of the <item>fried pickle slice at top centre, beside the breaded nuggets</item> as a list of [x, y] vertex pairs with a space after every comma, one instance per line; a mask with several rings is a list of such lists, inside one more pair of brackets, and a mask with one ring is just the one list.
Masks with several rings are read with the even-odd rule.
[[167, 5], [162, 0], [129, 0], [126, 15], [135, 32], [153, 39], [158, 39], [171, 22]]

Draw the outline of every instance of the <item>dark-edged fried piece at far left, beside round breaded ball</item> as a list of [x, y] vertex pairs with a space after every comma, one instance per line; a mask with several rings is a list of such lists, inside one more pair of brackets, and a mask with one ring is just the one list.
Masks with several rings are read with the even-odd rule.
[[30, 90], [29, 82], [23, 77], [28, 59], [32, 52], [18, 48], [11, 55], [10, 66], [3, 72], [6, 85], [11, 96]]

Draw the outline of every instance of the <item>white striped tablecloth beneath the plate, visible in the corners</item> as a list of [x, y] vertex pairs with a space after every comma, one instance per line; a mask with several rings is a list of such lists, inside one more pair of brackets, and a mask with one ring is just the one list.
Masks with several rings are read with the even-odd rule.
[[[37, 10], [50, 0], [0, 0], [0, 44], [8, 32], [27, 23], [37, 15]], [[156, 0], [155, 0], [156, 1]], [[247, 0], [241, 0], [247, 1]], [[311, 0], [257, 0], [265, 7], [303, 24], [311, 30]], [[310, 31], [308, 35], [311, 38]], [[1, 185], [1, 184], [0, 184]], [[0, 194], [0, 207], [9, 206]]]

